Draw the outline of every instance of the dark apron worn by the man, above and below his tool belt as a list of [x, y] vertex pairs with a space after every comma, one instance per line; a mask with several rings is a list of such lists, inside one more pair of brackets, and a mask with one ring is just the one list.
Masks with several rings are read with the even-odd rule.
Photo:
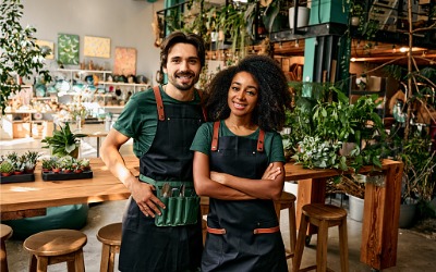
[[[193, 181], [190, 151], [203, 123], [199, 106], [165, 104], [152, 147], [140, 159], [141, 174], [156, 181]], [[197, 271], [203, 250], [202, 220], [184, 226], [156, 226], [130, 198], [123, 219], [121, 271]]]

